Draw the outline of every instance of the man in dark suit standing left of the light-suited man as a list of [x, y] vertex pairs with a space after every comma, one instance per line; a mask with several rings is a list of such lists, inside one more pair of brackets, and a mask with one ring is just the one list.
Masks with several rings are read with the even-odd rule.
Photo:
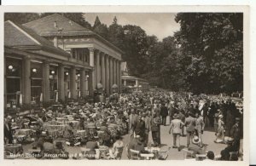
[[160, 146], [160, 124], [161, 118], [157, 115], [157, 113], [153, 113], [153, 119], [151, 123], [151, 131], [152, 131], [152, 138], [154, 141], [154, 146]]

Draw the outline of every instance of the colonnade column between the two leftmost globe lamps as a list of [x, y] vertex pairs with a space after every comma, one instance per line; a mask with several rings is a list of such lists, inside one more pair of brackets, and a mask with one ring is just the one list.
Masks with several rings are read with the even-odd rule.
[[26, 57], [23, 60], [23, 95], [24, 95], [24, 103], [31, 103], [31, 61], [30, 58]]

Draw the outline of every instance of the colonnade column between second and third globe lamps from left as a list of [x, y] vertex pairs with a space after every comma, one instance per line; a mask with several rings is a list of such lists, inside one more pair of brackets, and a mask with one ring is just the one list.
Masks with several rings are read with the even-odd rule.
[[43, 70], [43, 101], [49, 102], [49, 61], [44, 61]]

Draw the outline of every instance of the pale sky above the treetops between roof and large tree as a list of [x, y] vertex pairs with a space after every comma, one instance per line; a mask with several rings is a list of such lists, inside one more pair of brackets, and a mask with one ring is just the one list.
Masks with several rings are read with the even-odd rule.
[[113, 23], [113, 17], [116, 16], [118, 24], [125, 25], [136, 25], [143, 28], [147, 35], [155, 35], [161, 41], [164, 37], [173, 36], [175, 31], [179, 30], [179, 24], [174, 20], [174, 13], [148, 13], [148, 14], [135, 14], [135, 13], [86, 13], [84, 14], [85, 20], [90, 22], [90, 25], [94, 25], [96, 16], [103, 24], [107, 26]]

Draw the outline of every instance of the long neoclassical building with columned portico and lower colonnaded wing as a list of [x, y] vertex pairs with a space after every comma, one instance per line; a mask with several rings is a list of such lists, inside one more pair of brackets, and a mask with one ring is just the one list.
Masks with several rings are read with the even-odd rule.
[[[52, 14], [4, 23], [5, 104], [78, 99], [98, 83], [121, 89], [122, 51], [93, 31]], [[12, 85], [10, 84], [12, 83]]]

